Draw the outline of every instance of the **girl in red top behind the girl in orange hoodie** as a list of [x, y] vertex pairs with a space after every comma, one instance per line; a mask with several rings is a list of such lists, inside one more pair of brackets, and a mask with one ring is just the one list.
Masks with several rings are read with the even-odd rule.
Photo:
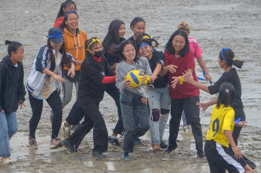
[[75, 3], [72, 0], [64, 1], [61, 4], [60, 10], [58, 12], [58, 15], [57, 15], [57, 18], [56, 18], [56, 21], [55, 21], [55, 24], [53, 25], [53, 27], [54, 28], [59, 27], [63, 23], [65, 15], [69, 11], [72, 11], [72, 10], [77, 11]]

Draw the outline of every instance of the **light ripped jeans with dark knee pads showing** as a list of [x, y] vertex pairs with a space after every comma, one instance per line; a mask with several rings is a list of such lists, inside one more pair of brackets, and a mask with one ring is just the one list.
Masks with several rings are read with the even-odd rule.
[[171, 107], [169, 86], [167, 85], [165, 88], [149, 87], [148, 95], [148, 104], [150, 107], [151, 144], [160, 144], [160, 141], [164, 135]]

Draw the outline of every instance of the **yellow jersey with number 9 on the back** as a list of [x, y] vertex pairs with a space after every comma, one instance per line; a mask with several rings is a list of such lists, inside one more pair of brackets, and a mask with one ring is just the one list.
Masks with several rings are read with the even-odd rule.
[[217, 108], [217, 105], [215, 105], [211, 112], [206, 140], [214, 140], [224, 147], [229, 147], [229, 141], [224, 135], [224, 130], [231, 130], [231, 133], [233, 133], [234, 117], [235, 111], [232, 107], [224, 107], [224, 104], [220, 104], [220, 108]]

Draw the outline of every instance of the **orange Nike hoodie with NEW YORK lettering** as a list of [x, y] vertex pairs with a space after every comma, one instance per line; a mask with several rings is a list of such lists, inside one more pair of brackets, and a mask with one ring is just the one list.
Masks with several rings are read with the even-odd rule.
[[[84, 44], [88, 40], [86, 33], [83, 30], [77, 28], [77, 35], [73, 35], [70, 31], [64, 28], [64, 44], [66, 52], [73, 55], [74, 60], [84, 60], [85, 48]], [[80, 71], [81, 66], [75, 66], [76, 71]], [[68, 70], [66, 67], [65, 70]]]

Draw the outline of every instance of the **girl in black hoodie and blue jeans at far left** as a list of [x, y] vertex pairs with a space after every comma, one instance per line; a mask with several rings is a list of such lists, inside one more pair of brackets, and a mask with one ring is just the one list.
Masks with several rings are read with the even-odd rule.
[[12, 164], [9, 140], [18, 129], [16, 111], [26, 105], [23, 84], [23, 45], [6, 40], [8, 55], [0, 62], [0, 162]]

